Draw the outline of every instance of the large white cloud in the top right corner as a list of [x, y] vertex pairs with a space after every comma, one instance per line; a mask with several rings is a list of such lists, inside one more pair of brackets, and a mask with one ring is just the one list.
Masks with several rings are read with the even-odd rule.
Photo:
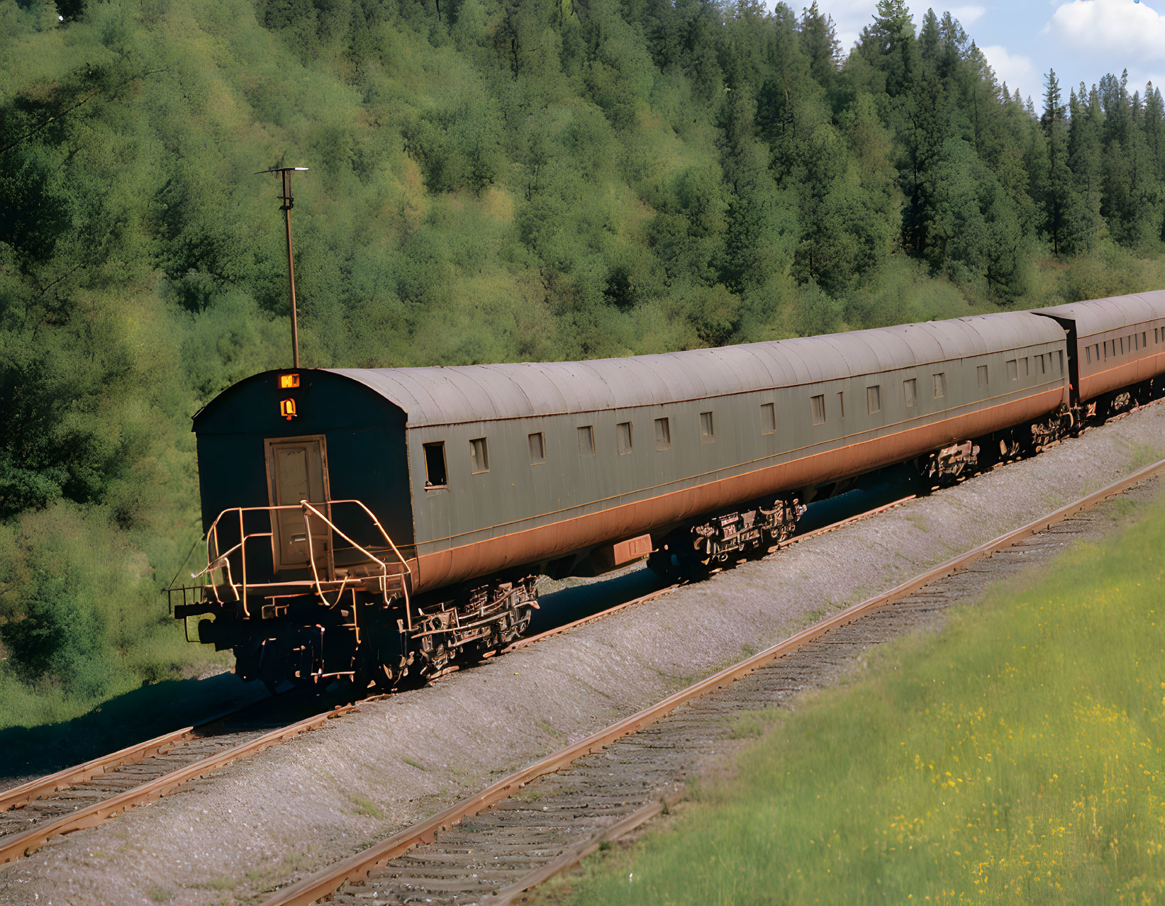
[[1127, 63], [1165, 59], [1165, 16], [1145, 2], [1072, 0], [1061, 3], [1042, 34], [1089, 56]]

